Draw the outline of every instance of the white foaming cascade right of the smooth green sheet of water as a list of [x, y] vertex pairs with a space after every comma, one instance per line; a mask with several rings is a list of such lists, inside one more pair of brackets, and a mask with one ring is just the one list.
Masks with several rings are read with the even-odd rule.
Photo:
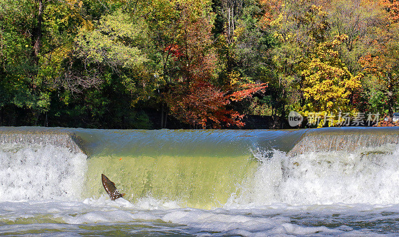
[[398, 145], [292, 157], [258, 151], [255, 157], [262, 164], [239, 186], [230, 204], [399, 203]]

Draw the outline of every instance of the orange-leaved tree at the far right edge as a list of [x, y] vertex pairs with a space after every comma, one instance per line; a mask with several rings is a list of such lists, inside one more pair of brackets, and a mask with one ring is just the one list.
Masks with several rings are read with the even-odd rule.
[[366, 100], [369, 110], [392, 117], [398, 104], [398, 2], [382, 0], [383, 23], [378, 28], [378, 37], [373, 41], [367, 54], [360, 58], [367, 77]]

